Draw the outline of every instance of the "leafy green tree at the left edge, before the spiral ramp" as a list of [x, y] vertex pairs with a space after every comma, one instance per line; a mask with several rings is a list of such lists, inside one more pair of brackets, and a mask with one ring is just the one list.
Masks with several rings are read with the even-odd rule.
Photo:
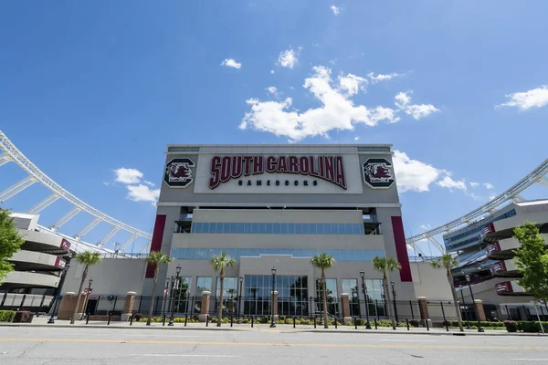
[[0, 208], [0, 284], [14, 270], [13, 264], [8, 260], [16, 255], [24, 243], [25, 240], [19, 235], [9, 212]]

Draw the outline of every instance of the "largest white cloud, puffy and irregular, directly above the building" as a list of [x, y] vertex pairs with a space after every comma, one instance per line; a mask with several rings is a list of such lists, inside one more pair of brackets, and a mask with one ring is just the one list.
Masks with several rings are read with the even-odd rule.
[[[381, 120], [398, 120], [395, 110], [390, 108], [378, 106], [368, 109], [364, 105], [354, 105], [350, 96], [360, 88], [361, 78], [348, 74], [342, 77], [342, 85], [341, 78], [338, 85], [333, 85], [330, 68], [318, 66], [313, 71], [310, 78], [305, 78], [303, 88], [308, 89], [321, 102], [320, 107], [300, 112], [291, 108], [291, 98], [281, 101], [248, 99], [250, 111], [244, 116], [239, 128], [269, 131], [277, 136], [289, 137], [292, 141], [300, 141], [312, 136], [328, 138], [331, 130], [353, 130], [355, 123], [374, 127]], [[347, 94], [342, 94], [341, 89], [346, 90]]]

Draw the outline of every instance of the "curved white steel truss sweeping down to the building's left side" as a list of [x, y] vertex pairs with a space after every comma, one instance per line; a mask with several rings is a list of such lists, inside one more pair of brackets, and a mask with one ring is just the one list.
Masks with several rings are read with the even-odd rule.
[[[38, 169], [37, 166], [34, 163], [32, 163], [30, 160], [28, 160], [21, 151], [17, 150], [16, 146], [11, 141], [8, 140], [8, 138], [5, 136], [5, 134], [1, 130], [0, 130], [0, 149], [5, 151], [5, 153], [2, 154], [2, 156], [6, 155], [9, 160], [16, 162], [16, 164], [19, 165], [19, 167], [21, 167], [30, 175], [29, 178], [34, 179], [35, 182], [37, 181], [41, 183], [42, 185], [46, 186], [49, 190], [51, 190], [53, 193], [58, 194], [59, 197], [68, 201], [68, 203], [73, 204], [76, 207], [75, 209], [79, 209], [79, 211], [91, 214], [94, 217], [99, 218], [100, 221], [105, 222], [107, 224], [111, 224], [112, 226], [122, 231], [126, 231], [132, 235], [138, 235], [148, 240], [152, 239], [153, 237], [152, 235], [147, 234], [146, 232], [142, 232], [141, 230], [134, 228], [131, 225], [124, 224], [107, 214], [103, 214], [99, 210], [90, 206], [88, 203], [85, 203], [79, 200], [79, 198], [77, 198], [75, 195], [68, 193], [68, 191], [63, 189], [61, 185], [54, 182], [52, 179], [50, 179], [47, 176], [46, 173]], [[4, 160], [5, 158], [3, 157], [2, 161]], [[16, 192], [16, 193], [19, 193], [19, 192]], [[0, 198], [0, 202], [4, 200], [5, 199]]]

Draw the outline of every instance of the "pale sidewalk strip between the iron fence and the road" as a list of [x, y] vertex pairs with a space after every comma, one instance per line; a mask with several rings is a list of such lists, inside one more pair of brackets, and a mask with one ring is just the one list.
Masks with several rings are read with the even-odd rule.
[[240, 332], [283, 332], [283, 333], [292, 333], [292, 332], [313, 332], [313, 333], [382, 333], [382, 334], [399, 334], [399, 335], [430, 335], [430, 336], [543, 336], [541, 334], [535, 333], [509, 333], [505, 330], [496, 330], [496, 329], [486, 329], [485, 332], [480, 333], [476, 329], [465, 329], [464, 332], [460, 332], [455, 328], [449, 328], [447, 331], [446, 328], [430, 328], [428, 331], [427, 328], [409, 328], [400, 327], [396, 330], [392, 328], [378, 328], [378, 329], [365, 329], [364, 326], [359, 326], [358, 329], [355, 329], [353, 326], [344, 326], [339, 325], [338, 328], [330, 326], [330, 328], [325, 329], [321, 326], [314, 328], [314, 326], [307, 325], [298, 325], [296, 328], [293, 328], [292, 325], [276, 325], [276, 328], [269, 328], [269, 324], [255, 324], [251, 328], [250, 324], [233, 324], [233, 327], [230, 327], [230, 323], [223, 323], [222, 327], [216, 327], [215, 323], [209, 323], [205, 327], [205, 323], [187, 323], [184, 327], [184, 323], [174, 323], [173, 327], [162, 326], [162, 322], [153, 322], [151, 326], [146, 326], [146, 318], [143, 318], [141, 321], [133, 321], [132, 325], [130, 322], [111, 322], [110, 325], [107, 325], [107, 322], [103, 321], [90, 321], [86, 325], [85, 320], [77, 321], [74, 325], [70, 324], [69, 320], [55, 320], [55, 324], [47, 324], [49, 317], [42, 316], [34, 318], [32, 323], [0, 323], [0, 327], [43, 327], [43, 328], [123, 328], [123, 329], [156, 329], [156, 330], [216, 330], [216, 331], [240, 331]]

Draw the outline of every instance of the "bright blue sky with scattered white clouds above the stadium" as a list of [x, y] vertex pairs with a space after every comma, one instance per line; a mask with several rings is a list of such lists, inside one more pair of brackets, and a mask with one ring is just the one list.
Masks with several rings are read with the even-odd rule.
[[[68, 191], [147, 232], [167, 143], [392, 143], [416, 235], [546, 158], [547, 12], [494, 0], [6, 2], [0, 130]], [[142, 176], [115, 182], [120, 168]], [[0, 176], [3, 190], [24, 173], [11, 163]], [[5, 206], [46, 194], [36, 184]], [[42, 223], [67, 210], [55, 203]]]

